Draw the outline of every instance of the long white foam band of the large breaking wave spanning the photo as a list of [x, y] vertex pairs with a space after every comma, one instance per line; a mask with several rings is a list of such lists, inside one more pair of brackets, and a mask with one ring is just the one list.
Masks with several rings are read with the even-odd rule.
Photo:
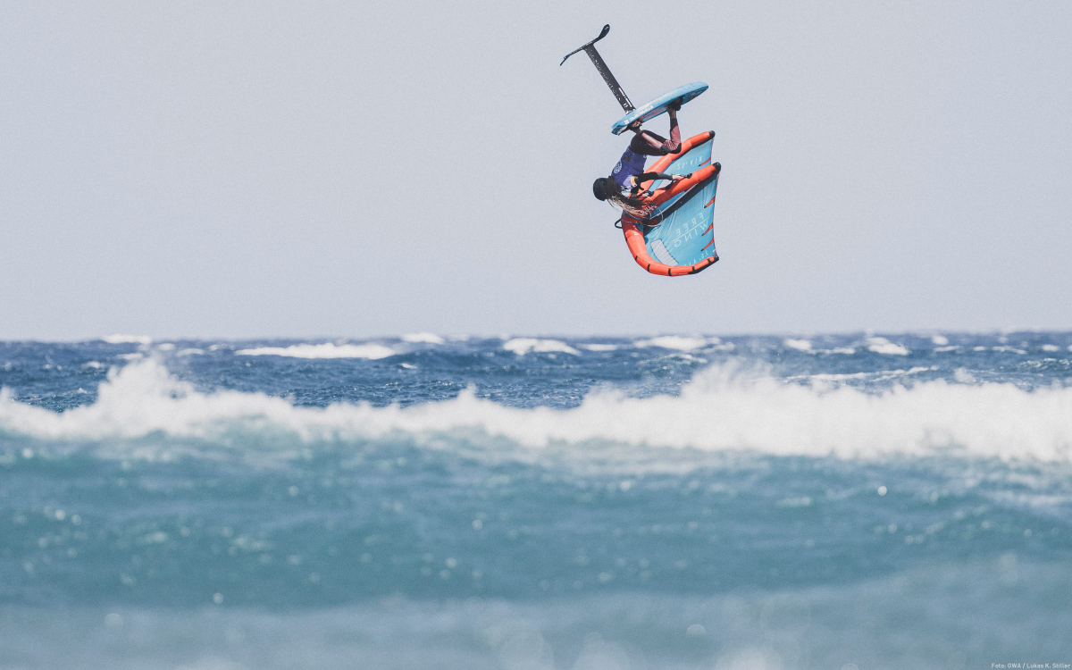
[[[219, 449], [241, 444], [243, 453], [279, 453], [317, 441], [398, 434], [408, 434], [418, 444], [450, 445], [450, 435], [458, 433], [465, 442], [485, 434], [530, 448], [568, 443], [578, 445], [571, 448], [578, 453], [583, 453], [583, 443], [596, 441], [843, 458], [949, 450], [971, 457], [1072, 460], [1072, 388], [1027, 391], [1012, 384], [938, 381], [875, 394], [829, 387], [787, 384], [716, 366], [680, 396], [593, 392], [569, 410], [507, 407], [473, 391], [405, 408], [347, 403], [313, 408], [264, 393], [203, 393], [148, 359], [111, 370], [95, 403], [62, 413], [14, 402], [4, 390], [0, 433], [110, 445], [101, 447], [105, 450], [124, 448], [115, 438], [150, 435], [198, 438]], [[125, 448], [146, 458], [160, 458], [167, 449], [136, 444], [142, 446]]]

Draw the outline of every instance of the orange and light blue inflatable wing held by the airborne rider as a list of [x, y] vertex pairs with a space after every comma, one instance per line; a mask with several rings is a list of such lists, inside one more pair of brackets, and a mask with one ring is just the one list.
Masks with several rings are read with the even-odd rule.
[[[622, 217], [622, 232], [634, 259], [652, 274], [695, 274], [718, 260], [715, 251], [714, 204], [721, 166], [711, 163], [714, 132], [689, 137], [681, 153], [665, 155], [647, 172], [693, 174], [675, 182], [649, 182], [647, 215]], [[661, 187], [659, 185], [661, 184]]]

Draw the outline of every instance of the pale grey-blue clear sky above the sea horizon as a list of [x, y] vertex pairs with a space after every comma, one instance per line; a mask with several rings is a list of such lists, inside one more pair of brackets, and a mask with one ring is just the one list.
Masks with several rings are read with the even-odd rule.
[[[1072, 328], [1069, 2], [15, 2], [0, 339]], [[592, 196], [689, 81], [721, 259]], [[666, 117], [649, 126], [666, 134]]]

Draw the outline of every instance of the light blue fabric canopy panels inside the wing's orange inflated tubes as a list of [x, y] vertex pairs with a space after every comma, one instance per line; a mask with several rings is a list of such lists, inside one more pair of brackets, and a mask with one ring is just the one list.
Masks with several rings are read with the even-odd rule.
[[[710, 164], [711, 140], [709, 139], [668, 165], [664, 172], [670, 175], [687, 175]], [[696, 265], [704, 258], [716, 255], [715, 232], [709, 229], [714, 221], [715, 207], [709, 203], [715, 197], [717, 188], [716, 176], [699, 191], [693, 189], [664, 203], [652, 214], [652, 220], [657, 220], [657, 217], [675, 205], [680, 207], [676, 207], [661, 223], [644, 233], [649, 255], [670, 266]]]

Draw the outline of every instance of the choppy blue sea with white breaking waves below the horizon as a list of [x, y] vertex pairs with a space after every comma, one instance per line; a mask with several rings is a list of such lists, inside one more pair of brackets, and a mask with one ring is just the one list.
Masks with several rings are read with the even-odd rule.
[[1072, 664], [1070, 349], [0, 343], [0, 668]]

